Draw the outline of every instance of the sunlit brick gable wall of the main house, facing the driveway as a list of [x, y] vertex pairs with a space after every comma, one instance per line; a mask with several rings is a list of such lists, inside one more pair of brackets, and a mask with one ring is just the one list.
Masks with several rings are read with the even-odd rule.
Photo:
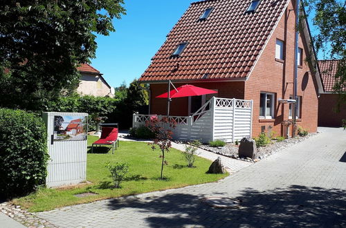
[[[253, 137], [261, 132], [261, 126], [272, 126], [272, 131], [278, 135], [284, 134], [281, 122], [289, 118], [289, 104], [278, 104], [277, 99], [289, 99], [293, 95], [293, 70], [294, 70], [294, 38], [295, 38], [295, 12], [292, 3], [284, 12], [271, 39], [269, 39], [262, 56], [253, 73], [245, 84], [245, 99], [253, 99]], [[275, 60], [276, 39], [284, 41], [284, 61]], [[303, 59], [308, 55], [307, 44], [299, 39], [299, 47], [303, 48]], [[298, 96], [302, 97], [301, 119], [299, 126], [317, 131], [318, 118], [318, 92], [316, 79], [311, 74], [309, 66], [303, 61], [298, 68]], [[312, 70], [311, 70], [312, 72]], [[275, 93], [275, 119], [260, 120], [260, 92]]]

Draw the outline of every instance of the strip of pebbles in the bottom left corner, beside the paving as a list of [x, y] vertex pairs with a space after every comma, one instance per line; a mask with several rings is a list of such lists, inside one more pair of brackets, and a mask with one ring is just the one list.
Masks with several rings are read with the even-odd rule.
[[[9, 202], [3, 202], [0, 204], [0, 211], [5, 213], [10, 218], [13, 218], [17, 222], [20, 222], [26, 227], [56, 227], [42, 218], [38, 218], [33, 213], [30, 213], [24, 209], [21, 209], [20, 206], [15, 206], [10, 204]], [[1, 227], [1, 225], [0, 225]]]

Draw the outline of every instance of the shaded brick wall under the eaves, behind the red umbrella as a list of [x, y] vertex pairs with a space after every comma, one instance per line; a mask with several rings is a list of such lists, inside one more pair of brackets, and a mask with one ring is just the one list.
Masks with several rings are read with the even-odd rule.
[[[202, 82], [189, 84], [202, 88], [217, 89], [218, 93], [215, 94], [215, 97], [244, 99], [244, 82]], [[174, 83], [176, 87], [182, 85], [181, 83]], [[167, 86], [167, 84], [150, 84], [151, 114], [165, 115], [167, 113], [167, 99], [156, 98], [156, 96], [167, 92]], [[188, 115], [188, 97], [173, 98], [170, 104], [170, 115]]]

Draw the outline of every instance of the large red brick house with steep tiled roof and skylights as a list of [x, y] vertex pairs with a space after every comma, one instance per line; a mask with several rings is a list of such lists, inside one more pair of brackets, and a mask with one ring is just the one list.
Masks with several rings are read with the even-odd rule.
[[[318, 95], [323, 92], [302, 21], [298, 57], [298, 125], [317, 130]], [[251, 136], [262, 131], [283, 135], [293, 95], [295, 1], [198, 1], [179, 19], [152, 58], [140, 82], [149, 83], [151, 114], [165, 115], [167, 81], [217, 91], [215, 97], [252, 100]], [[311, 59], [307, 64], [304, 59]], [[212, 96], [172, 99], [171, 115], [192, 115]], [[214, 139], [214, 137], [213, 137]]]

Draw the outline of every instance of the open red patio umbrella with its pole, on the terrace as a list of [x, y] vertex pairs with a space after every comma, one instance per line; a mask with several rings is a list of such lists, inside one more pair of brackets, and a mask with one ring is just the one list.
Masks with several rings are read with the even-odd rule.
[[207, 88], [201, 88], [197, 86], [192, 86], [192, 85], [184, 85], [180, 86], [178, 88], [175, 88], [174, 85], [174, 90], [170, 90], [172, 82], [168, 82], [168, 92], [163, 93], [161, 95], [158, 95], [157, 98], [167, 98], [167, 116], [170, 115], [170, 101], [171, 98], [176, 98], [176, 97], [192, 97], [192, 96], [200, 96], [200, 95], [206, 95], [206, 94], [212, 94], [212, 93], [217, 93], [215, 91], [212, 91]]

